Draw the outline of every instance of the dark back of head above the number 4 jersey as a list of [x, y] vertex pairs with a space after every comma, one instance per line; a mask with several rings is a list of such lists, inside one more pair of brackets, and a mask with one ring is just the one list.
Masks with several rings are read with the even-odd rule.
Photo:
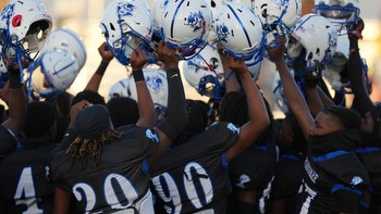
[[27, 105], [24, 134], [26, 138], [49, 135], [54, 126], [53, 108], [48, 102], [30, 102]]

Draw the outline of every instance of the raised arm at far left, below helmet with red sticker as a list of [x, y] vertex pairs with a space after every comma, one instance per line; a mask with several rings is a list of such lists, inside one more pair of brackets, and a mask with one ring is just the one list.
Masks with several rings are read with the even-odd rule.
[[[5, 63], [9, 72], [10, 91], [8, 97], [9, 117], [2, 125], [15, 136], [23, 129], [26, 118], [26, 97], [19, 65], [13, 64], [12, 59]], [[28, 61], [22, 59], [23, 68], [28, 66]]]

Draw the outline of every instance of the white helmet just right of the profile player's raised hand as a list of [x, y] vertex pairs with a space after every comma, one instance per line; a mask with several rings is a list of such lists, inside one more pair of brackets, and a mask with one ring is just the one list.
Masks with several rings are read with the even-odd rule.
[[[321, 15], [310, 13], [296, 23], [292, 38], [286, 45], [287, 55], [292, 59], [304, 58], [306, 70], [314, 72], [317, 66], [331, 61], [336, 43], [337, 34], [331, 22]], [[305, 55], [300, 55], [303, 48]]]

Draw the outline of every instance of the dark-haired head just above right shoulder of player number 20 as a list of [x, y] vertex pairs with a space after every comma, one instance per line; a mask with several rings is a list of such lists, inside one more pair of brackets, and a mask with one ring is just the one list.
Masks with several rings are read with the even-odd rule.
[[139, 118], [137, 102], [131, 98], [111, 98], [107, 102], [111, 122], [113, 126], [120, 127], [130, 124], [136, 124]]

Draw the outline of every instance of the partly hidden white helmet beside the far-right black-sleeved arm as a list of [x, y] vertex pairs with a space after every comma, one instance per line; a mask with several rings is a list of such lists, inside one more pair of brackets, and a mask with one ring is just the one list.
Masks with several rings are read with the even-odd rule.
[[332, 61], [324, 66], [323, 76], [334, 90], [341, 90], [349, 85], [348, 79], [344, 81], [341, 77], [344, 66], [349, 59], [349, 39], [346, 35], [337, 37], [337, 48]]

